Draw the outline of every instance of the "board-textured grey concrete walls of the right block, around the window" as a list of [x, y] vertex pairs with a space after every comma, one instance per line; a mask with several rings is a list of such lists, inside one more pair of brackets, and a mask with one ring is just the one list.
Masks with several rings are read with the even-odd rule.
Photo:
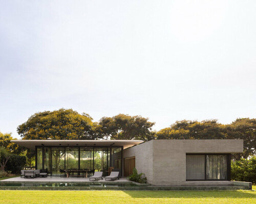
[[243, 140], [152, 140], [124, 149], [153, 185], [185, 185], [187, 153], [239, 153]]

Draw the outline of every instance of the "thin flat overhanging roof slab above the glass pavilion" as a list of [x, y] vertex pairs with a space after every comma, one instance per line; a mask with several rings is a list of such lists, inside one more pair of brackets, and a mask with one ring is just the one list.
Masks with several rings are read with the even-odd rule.
[[35, 150], [35, 146], [123, 146], [132, 147], [143, 140], [11, 140], [20, 146]]

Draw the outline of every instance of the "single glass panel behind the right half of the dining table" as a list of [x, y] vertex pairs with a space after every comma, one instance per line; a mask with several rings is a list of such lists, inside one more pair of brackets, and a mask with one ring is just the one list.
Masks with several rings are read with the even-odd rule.
[[93, 147], [80, 147], [80, 169], [94, 169]]

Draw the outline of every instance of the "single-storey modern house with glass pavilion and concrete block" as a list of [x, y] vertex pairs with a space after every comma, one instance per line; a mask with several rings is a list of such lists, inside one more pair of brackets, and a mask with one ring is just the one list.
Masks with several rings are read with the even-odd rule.
[[[243, 140], [12, 140], [36, 152], [36, 169], [59, 176], [66, 169], [145, 173], [152, 185], [217, 184], [230, 180], [231, 153]], [[199, 182], [199, 183], [198, 183]]]

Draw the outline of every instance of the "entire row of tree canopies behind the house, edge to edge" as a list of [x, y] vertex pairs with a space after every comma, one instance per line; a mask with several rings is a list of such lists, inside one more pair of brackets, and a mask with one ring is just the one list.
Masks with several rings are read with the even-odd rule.
[[[72, 109], [38, 112], [17, 127], [23, 139], [243, 139], [243, 154], [234, 155], [235, 159], [248, 158], [256, 154], [256, 119], [238, 118], [230, 124], [211, 120], [180, 120], [157, 133], [152, 130], [155, 122], [142, 116], [118, 114], [102, 117], [99, 122], [86, 114]], [[10, 134], [0, 134], [1, 146], [10, 152], [17, 150], [11, 144]]]

